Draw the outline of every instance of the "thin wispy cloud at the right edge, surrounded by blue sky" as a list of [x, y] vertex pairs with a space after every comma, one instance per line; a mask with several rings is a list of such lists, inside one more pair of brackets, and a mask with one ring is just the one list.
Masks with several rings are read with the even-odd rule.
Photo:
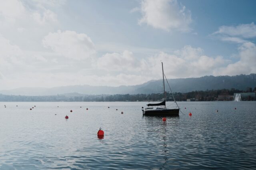
[[212, 36], [226, 42], [245, 43], [248, 42], [245, 39], [256, 37], [256, 25], [252, 22], [238, 26], [220, 26], [219, 30], [214, 32]]

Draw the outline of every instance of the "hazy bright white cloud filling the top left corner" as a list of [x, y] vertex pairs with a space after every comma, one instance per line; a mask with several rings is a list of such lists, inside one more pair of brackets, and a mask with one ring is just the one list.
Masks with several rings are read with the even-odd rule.
[[0, 3], [0, 34], [25, 50], [43, 49], [42, 38], [59, 26], [58, 7], [40, 1], [6, 0]]

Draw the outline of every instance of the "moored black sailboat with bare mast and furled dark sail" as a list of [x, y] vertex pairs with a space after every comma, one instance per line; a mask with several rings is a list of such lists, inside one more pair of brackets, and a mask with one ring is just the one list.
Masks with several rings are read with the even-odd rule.
[[[164, 83], [165, 75], [164, 75], [163, 63], [162, 63], [162, 72], [163, 72], [163, 83]], [[166, 81], [167, 81], [167, 79], [166, 79]], [[168, 81], [167, 81], [167, 83], [168, 83]], [[168, 83], [168, 85], [169, 85], [169, 83]], [[171, 93], [172, 93], [172, 90], [171, 90]], [[161, 103], [148, 104], [147, 105], [148, 107], [145, 110], [142, 109], [143, 115], [145, 115], [145, 116], [179, 116], [180, 107], [176, 103], [176, 100], [174, 99], [173, 94], [172, 94], [172, 97], [174, 99], [174, 103], [176, 103], [176, 105], [177, 105], [176, 109], [167, 109], [165, 94], [166, 94], [166, 92], [165, 92], [165, 86], [164, 86], [164, 101], [162, 101]], [[156, 107], [154, 109], [154, 107], [150, 107], [150, 106], [164, 106], [164, 107]]]

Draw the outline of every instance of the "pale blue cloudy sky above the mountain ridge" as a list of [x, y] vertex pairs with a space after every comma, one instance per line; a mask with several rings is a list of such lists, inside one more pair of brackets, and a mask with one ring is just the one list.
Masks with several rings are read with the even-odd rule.
[[255, 0], [0, 0], [0, 90], [256, 73]]

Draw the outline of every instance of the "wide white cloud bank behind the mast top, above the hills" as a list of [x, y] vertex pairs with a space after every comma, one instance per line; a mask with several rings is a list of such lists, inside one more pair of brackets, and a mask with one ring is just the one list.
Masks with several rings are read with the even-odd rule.
[[161, 52], [150, 57], [148, 65], [154, 69], [152, 74], [155, 73], [155, 77], [160, 77], [161, 61], [164, 63], [164, 70], [168, 78], [211, 75], [213, 70], [228, 62], [222, 56], [209, 57], [204, 55], [201, 48], [186, 45], [181, 50], [175, 51], [174, 54]]

